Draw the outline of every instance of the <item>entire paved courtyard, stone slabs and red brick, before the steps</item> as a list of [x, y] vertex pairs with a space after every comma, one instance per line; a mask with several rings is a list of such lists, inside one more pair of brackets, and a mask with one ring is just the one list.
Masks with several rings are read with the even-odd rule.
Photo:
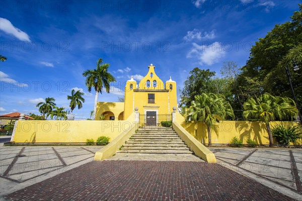
[[[302, 200], [302, 150], [210, 148], [93, 161], [101, 147], [0, 146], [1, 200]], [[141, 159], [141, 160], [140, 160]]]

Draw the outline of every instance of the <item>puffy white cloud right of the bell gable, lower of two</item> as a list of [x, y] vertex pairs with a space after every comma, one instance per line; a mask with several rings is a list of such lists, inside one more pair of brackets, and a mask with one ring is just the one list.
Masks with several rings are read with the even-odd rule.
[[219, 62], [219, 59], [225, 55], [219, 42], [214, 42], [209, 46], [193, 43], [193, 47], [187, 54], [187, 58], [197, 58], [199, 64], [212, 65]]

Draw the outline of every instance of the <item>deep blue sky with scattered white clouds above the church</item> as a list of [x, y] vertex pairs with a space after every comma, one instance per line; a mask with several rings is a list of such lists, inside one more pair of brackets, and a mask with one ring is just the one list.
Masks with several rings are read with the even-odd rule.
[[245, 65], [249, 50], [275, 24], [290, 21], [301, 1], [6, 1], [0, 2], [0, 114], [39, 114], [35, 107], [54, 97], [68, 108], [72, 88], [86, 102], [76, 119], [89, 118], [95, 91], [82, 73], [109, 63], [116, 77], [116, 102], [131, 77], [139, 81], [153, 63], [163, 81], [182, 88], [194, 67], [217, 72], [223, 61]]

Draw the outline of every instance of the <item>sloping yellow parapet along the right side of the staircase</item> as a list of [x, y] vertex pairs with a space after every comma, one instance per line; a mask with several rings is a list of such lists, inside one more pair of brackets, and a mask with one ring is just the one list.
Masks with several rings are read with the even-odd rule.
[[180, 124], [173, 122], [173, 129], [196, 156], [202, 158], [208, 163], [216, 163], [215, 155], [193, 136], [191, 136]]

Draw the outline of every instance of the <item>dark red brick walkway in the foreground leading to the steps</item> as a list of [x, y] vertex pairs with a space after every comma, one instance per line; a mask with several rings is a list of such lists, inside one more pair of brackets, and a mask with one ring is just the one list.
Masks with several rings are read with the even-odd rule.
[[219, 164], [93, 161], [5, 196], [12, 200], [293, 200]]

